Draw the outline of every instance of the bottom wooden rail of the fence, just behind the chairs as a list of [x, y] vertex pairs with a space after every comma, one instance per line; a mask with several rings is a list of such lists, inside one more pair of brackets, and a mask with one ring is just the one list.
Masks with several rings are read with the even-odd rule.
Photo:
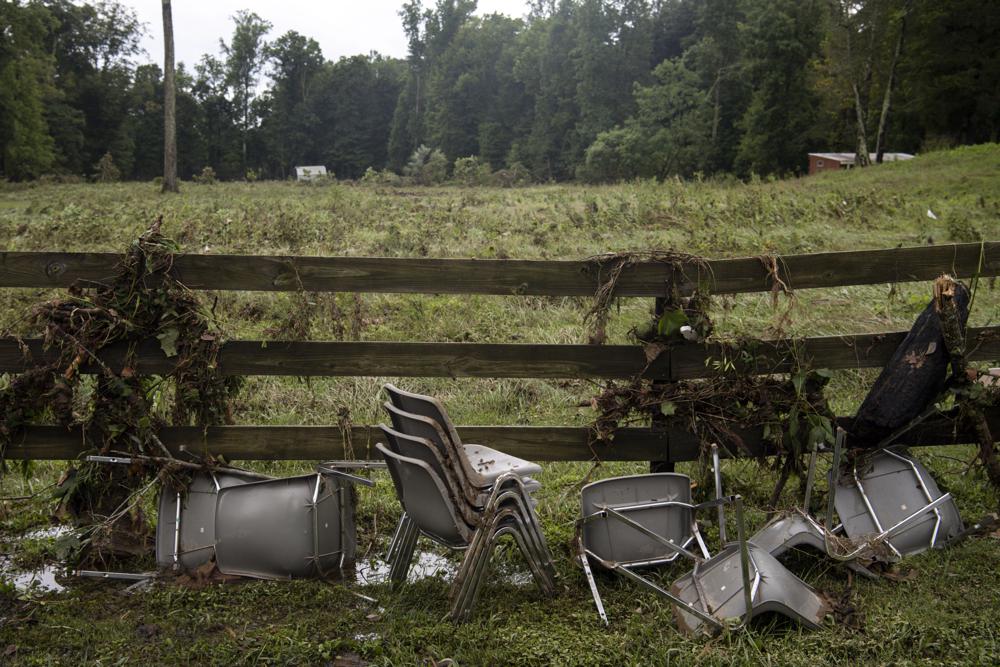
[[[988, 413], [990, 429], [1000, 432], [1000, 411]], [[841, 417], [847, 424], [850, 419]], [[460, 426], [462, 440], [493, 447], [513, 456], [535, 461], [694, 461], [701, 446], [691, 433], [681, 430], [654, 431], [624, 428], [616, 432], [612, 444], [588, 445], [590, 431], [581, 426]], [[374, 443], [381, 433], [374, 426], [354, 426], [351, 448], [359, 459], [377, 459]], [[740, 433], [748, 451], [743, 454], [768, 455], [774, 451], [761, 429]], [[177, 457], [185, 452], [210, 452], [227, 460], [312, 460], [339, 459], [345, 455], [344, 433], [336, 426], [212, 426], [167, 427], [159, 437]], [[898, 444], [943, 446], [976, 442], [970, 431], [957, 430], [945, 417], [929, 418], [904, 433]], [[23, 438], [6, 451], [9, 459], [66, 460], [83, 452], [83, 434], [58, 426], [32, 426]]]

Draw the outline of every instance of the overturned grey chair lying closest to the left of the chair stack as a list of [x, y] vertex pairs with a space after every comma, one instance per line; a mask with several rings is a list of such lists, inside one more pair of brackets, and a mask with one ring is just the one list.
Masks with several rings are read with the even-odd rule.
[[259, 579], [327, 577], [353, 563], [353, 484], [374, 485], [321, 464], [315, 474], [222, 488], [215, 507], [219, 571]]

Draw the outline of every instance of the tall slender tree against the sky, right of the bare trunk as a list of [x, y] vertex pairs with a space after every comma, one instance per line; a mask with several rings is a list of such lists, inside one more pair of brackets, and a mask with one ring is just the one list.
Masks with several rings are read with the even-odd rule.
[[226, 84], [233, 91], [233, 103], [238, 112], [241, 161], [244, 176], [247, 171], [247, 135], [255, 119], [253, 101], [257, 97], [257, 82], [267, 62], [267, 42], [264, 36], [271, 30], [271, 23], [257, 14], [242, 9], [232, 17], [235, 23], [229, 44], [219, 40], [225, 57]]

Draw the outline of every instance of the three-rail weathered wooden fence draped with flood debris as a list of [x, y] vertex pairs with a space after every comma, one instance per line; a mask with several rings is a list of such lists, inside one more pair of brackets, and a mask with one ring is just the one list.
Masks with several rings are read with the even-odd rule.
[[[76, 281], [101, 282], [115, 273], [119, 255], [111, 253], [0, 253], [0, 287], [67, 287]], [[931, 280], [942, 273], [958, 278], [1000, 275], [1000, 242], [923, 246], [891, 250], [785, 255], [774, 258], [709, 260], [677, 264], [655, 259], [622, 271], [615, 295], [663, 297], [670, 290], [690, 293], [696, 287], [712, 294], [770, 291], [779, 280], [799, 289]], [[777, 274], [769, 268], [776, 266]], [[610, 268], [608, 261], [533, 261], [473, 259], [391, 259], [366, 257], [281, 257], [178, 255], [174, 275], [197, 290], [329, 291], [428, 294], [592, 296]], [[871, 368], [884, 365], [906, 332], [762, 340], [755, 359], [743, 370], [757, 374], [791, 370], [791, 359], [814, 368]], [[25, 351], [29, 353], [25, 354]], [[794, 351], [794, 355], [793, 355]], [[286, 342], [231, 341], [224, 345], [220, 367], [227, 375], [410, 376], [510, 378], [629, 378], [676, 381], [706, 377], [709, 358], [727, 352], [718, 343], [676, 346], [647, 367], [635, 345], [536, 345], [430, 342]], [[0, 338], [0, 373], [18, 372], [26, 359], [46, 354], [39, 340]], [[102, 352], [115, 367], [121, 348]], [[971, 360], [1000, 359], [1000, 327], [971, 329]], [[138, 368], [165, 373], [172, 368], [156, 341], [141, 345]], [[85, 371], [87, 369], [84, 369]], [[1000, 414], [989, 415], [1000, 432]], [[461, 427], [463, 438], [539, 461], [692, 460], [698, 443], [691, 434], [650, 428], [622, 429], [614, 444], [588, 446], [582, 427]], [[359, 455], [371, 455], [370, 426], [350, 434]], [[208, 429], [170, 427], [161, 438], [171, 450], [210, 451], [229, 459], [319, 459], [343, 455], [336, 426], [221, 426]], [[759, 431], [743, 434], [751, 447], [766, 453]], [[969, 442], [946, 419], [929, 420], [902, 442], [940, 445]], [[51, 426], [27, 430], [12, 444], [12, 459], [66, 459], [81, 451], [82, 437]]]

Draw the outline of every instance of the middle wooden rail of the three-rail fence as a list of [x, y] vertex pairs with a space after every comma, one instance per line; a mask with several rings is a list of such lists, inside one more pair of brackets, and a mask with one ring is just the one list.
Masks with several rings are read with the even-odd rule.
[[[638, 345], [231, 341], [222, 346], [219, 368], [225, 375], [605, 379], [643, 374], [686, 380], [715, 375], [711, 362], [722, 360], [756, 374], [884, 366], [906, 333], [752, 341], [741, 347], [689, 343], [665, 350], [652, 363]], [[970, 327], [968, 341], [969, 360], [1000, 359], [1000, 327]], [[742, 359], [747, 355], [753, 359], [749, 366]], [[125, 348], [112, 345], [99, 356], [119, 370]], [[0, 338], [0, 373], [21, 372], [47, 357], [39, 339]], [[166, 374], [173, 363], [156, 341], [147, 341], [136, 350], [133, 370]]]

